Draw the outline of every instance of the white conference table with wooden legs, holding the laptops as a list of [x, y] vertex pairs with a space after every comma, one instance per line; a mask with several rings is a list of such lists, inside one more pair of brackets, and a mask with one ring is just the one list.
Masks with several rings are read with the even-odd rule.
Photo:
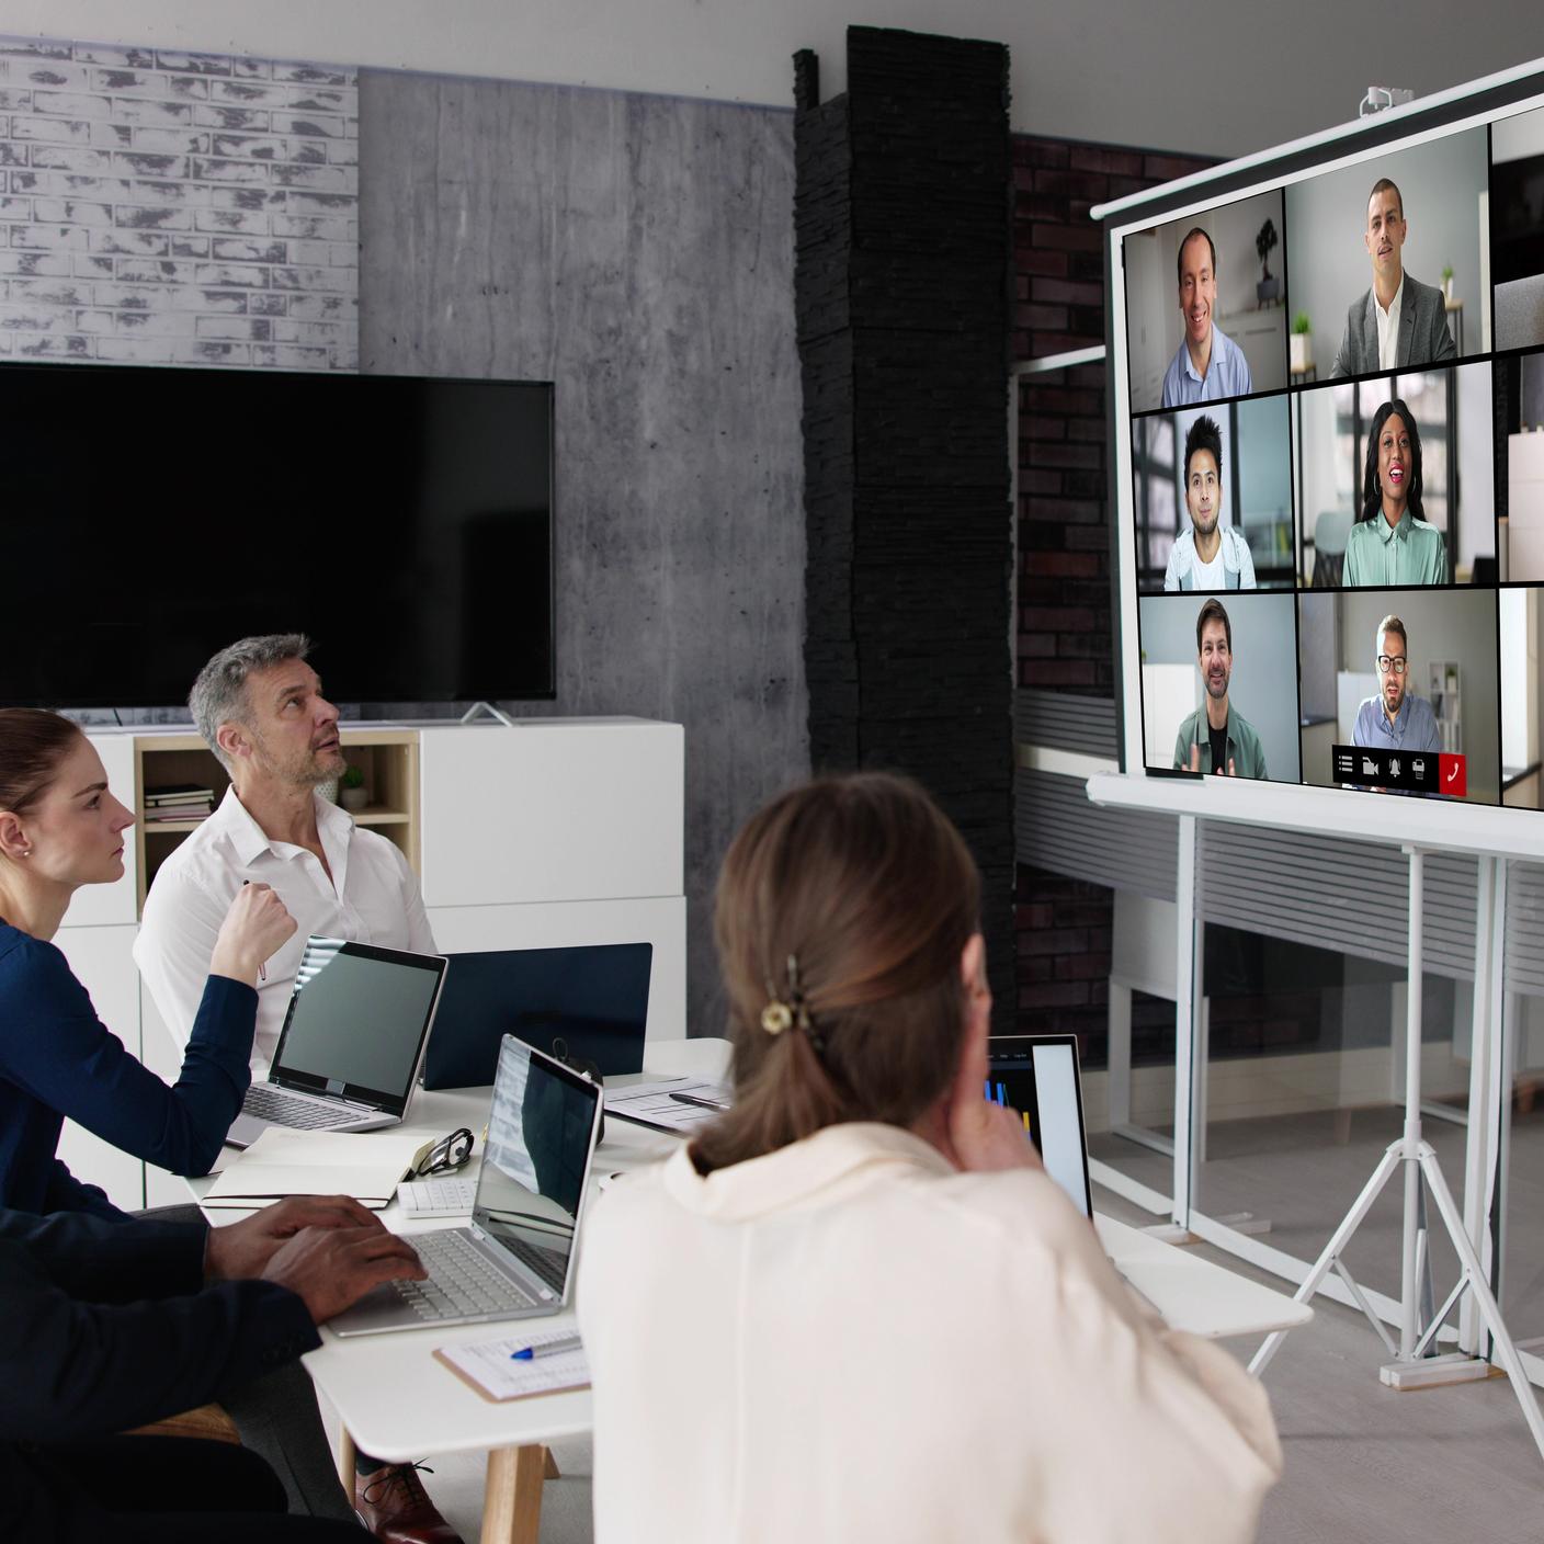
[[[729, 1042], [713, 1039], [650, 1045], [650, 1076], [675, 1073], [712, 1078], [727, 1068]], [[420, 1093], [408, 1124], [425, 1138], [468, 1126], [480, 1132], [488, 1118], [489, 1090]], [[398, 1127], [394, 1127], [398, 1130]], [[636, 1167], [669, 1153], [676, 1138], [610, 1119], [596, 1152], [596, 1175]], [[233, 1212], [216, 1214], [229, 1221]], [[381, 1214], [397, 1232], [454, 1226], [451, 1220], [409, 1220], [395, 1203]], [[1098, 1217], [1099, 1240], [1116, 1268], [1164, 1317], [1203, 1336], [1263, 1334], [1306, 1323], [1312, 1309], [1282, 1292], [1258, 1286], [1190, 1255], [1184, 1249]], [[533, 1323], [522, 1320], [522, 1323]], [[573, 1309], [534, 1322], [542, 1331], [574, 1325]], [[588, 1390], [493, 1403], [434, 1359], [437, 1346], [493, 1340], [510, 1331], [500, 1325], [406, 1329], [340, 1340], [326, 1326], [321, 1346], [304, 1357], [306, 1371], [332, 1400], [349, 1436], [343, 1458], [344, 1485], [352, 1492], [354, 1447], [391, 1462], [440, 1453], [488, 1451], [482, 1544], [536, 1544], [542, 1515], [542, 1481], [550, 1473], [547, 1445], [590, 1431]]]

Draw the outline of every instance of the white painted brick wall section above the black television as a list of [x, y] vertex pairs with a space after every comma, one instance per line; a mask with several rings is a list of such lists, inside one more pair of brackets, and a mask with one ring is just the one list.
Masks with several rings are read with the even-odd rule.
[[355, 371], [358, 82], [0, 37], [0, 358]]

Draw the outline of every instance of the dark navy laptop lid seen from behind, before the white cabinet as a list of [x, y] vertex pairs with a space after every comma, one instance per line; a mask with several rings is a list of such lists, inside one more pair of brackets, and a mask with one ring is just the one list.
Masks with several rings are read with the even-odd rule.
[[425, 1089], [483, 1089], [514, 1034], [602, 1076], [644, 1070], [652, 943], [451, 954]]

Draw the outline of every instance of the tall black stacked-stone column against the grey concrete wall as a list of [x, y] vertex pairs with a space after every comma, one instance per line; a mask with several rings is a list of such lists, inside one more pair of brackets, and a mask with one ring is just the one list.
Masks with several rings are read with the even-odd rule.
[[795, 56], [804, 670], [817, 770], [919, 778], [984, 880], [1013, 1019], [1008, 52], [848, 29]]

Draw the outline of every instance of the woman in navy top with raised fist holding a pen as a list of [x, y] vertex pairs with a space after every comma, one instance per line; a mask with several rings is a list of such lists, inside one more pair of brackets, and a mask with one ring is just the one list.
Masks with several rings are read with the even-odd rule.
[[267, 885], [249, 885], [221, 928], [174, 1087], [97, 1019], [49, 942], [82, 885], [124, 874], [133, 814], [66, 718], [0, 709], [0, 1206], [122, 1215], [54, 1156], [68, 1116], [173, 1173], [207, 1173], [241, 1110], [258, 967], [295, 931]]

